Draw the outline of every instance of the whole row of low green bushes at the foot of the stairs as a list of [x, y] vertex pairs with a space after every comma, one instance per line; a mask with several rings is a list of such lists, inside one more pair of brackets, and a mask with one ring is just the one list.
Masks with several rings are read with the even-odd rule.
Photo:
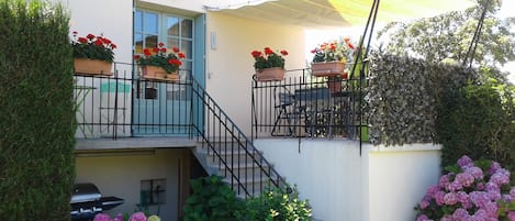
[[[184, 221], [306, 221], [311, 219], [307, 200], [299, 191], [270, 189], [245, 201], [237, 198], [222, 177], [191, 180], [192, 195], [184, 206]], [[288, 188], [290, 190], [290, 188]]]

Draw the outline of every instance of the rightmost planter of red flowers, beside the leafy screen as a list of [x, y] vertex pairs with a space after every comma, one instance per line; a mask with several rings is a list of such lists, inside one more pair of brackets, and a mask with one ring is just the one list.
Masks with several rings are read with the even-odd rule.
[[345, 74], [347, 60], [351, 60], [354, 45], [349, 37], [323, 43], [311, 51], [314, 54], [311, 64], [312, 75], [316, 77], [334, 77]]

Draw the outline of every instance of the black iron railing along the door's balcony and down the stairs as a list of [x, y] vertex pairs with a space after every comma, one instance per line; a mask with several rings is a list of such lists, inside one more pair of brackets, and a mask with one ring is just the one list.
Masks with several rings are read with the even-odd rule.
[[76, 74], [77, 137], [195, 139], [239, 196], [286, 186], [190, 71], [181, 70], [181, 79], [171, 82], [142, 79], [133, 76], [133, 68], [116, 63], [112, 76]]

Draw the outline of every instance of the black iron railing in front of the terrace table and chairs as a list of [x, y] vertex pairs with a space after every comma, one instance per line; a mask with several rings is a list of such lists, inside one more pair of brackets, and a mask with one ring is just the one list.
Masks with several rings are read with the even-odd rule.
[[363, 80], [315, 77], [309, 70], [289, 70], [280, 81], [254, 79], [253, 139], [360, 137]]

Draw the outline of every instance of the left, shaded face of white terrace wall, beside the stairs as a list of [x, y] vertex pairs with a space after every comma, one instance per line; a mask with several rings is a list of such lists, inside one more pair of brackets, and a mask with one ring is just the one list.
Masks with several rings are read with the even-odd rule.
[[[363, 221], [362, 173], [359, 147], [349, 141], [258, 140], [255, 145], [313, 207], [323, 221]], [[300, 144], [300, 145], [299, 145]]]

